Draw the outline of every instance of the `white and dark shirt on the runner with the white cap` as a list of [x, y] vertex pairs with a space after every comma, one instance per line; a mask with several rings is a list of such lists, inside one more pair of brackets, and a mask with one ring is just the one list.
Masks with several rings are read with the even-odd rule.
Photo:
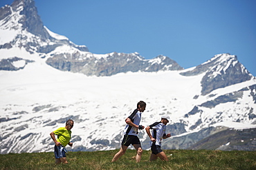
[[161, 122], [153, 123], [149, 125], [150, 129], [152, 129], [152, 137], [156, 139], [156, 142], [150, 142], [150, 146], [159, 145], [161, 146], [161, 142], [163, 140], [163, 136], [165, 136], [166, 125]]

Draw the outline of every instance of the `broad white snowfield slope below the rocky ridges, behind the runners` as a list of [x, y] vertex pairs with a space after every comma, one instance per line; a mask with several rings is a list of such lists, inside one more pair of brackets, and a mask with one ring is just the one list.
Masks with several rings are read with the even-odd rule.
[[[75, 121], [73, 151], [116, 149], [122, 139], [124, 120], [136, 108], [138, 100], [147, 103], [142, 125], [154, 123], [163, 114], [170, 115], [172, 124], [167, 125], [167, 131], [173, 137], [166, 140], [168, 143], [179, 136], [190, 138], [189, 134], [201, 133], [203, 128], [255, 127], [256, 108], [250, 96], [255, 92], [251, 89], [255, 80], [220, 89], [214, 92], [215, 96], [200, 95], [194, 99], [201, 92], [203, 75], [187, 77], [180, 73], [138, 72], [88, 77], [55, 70], [44, 62], [30, 63], [16, 72], [1, 71], [1, 153], [51, 151], [54, 144], [49, 133], [64, 126], [68, 118]], [[240, 89], [244, 89], [243, 95], [235, 101], [212, 108], [200, 106]], [[192, 112], [195, 106], [198, 109]], [[145, 131], [140, 131], [139, 135], [143, 148], [149, 148]], [[181, 149], [185, 143], [190, 147], [196, 142], [198, 140], [185, 140], [174, 148]]]

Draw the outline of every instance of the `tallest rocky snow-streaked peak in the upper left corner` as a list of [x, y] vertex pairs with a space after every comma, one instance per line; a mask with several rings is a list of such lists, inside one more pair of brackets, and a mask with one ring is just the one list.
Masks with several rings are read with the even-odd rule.
[[11, 6], [0, 9], [1, 48], [24, 47], [30, 54], [47, 54], [57, 47], [66, 46], [82, 52], [88, 52], [85, 45], [75, 45], [66, 38], [48, 30], [35, 7], [34, 0], [15, 0]]

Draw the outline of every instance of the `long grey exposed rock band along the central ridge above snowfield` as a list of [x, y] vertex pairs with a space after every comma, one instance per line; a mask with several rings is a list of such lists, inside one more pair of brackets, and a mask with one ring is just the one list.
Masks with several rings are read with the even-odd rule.
[[120, 72], [158, 72], [160, 70], [183, 70], [175, 61], [166, 56], [157, 56], [152, 60], [145, 60], [139, 54], [116, 53], [105, 57], [93, 54], [83, 55], [56, 54], [48, 58], [46, 63], [58, 70], [80, 72], [87, 76], [111, 76]]

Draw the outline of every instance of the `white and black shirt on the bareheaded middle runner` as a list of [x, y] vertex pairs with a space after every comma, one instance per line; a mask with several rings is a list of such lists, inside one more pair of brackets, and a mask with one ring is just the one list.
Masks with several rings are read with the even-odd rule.
[[[131, 122], [135, 125], [140, 125], [141, 112], [138, 109], [135, 109], [128, 118], [131, 119]], [[137, 136], [138, 129], [127, 124], [124, 130], [124, 135], [125, 134]]]

